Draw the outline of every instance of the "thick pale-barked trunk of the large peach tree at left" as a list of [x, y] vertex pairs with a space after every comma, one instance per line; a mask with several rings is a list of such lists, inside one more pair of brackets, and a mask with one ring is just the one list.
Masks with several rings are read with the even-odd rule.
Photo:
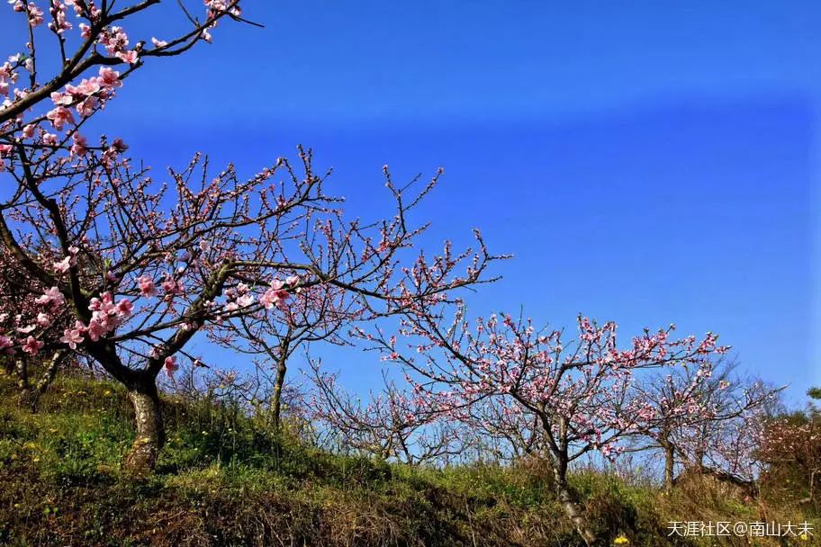
[[134, 406], [137, 436], [125, 457], [125, 470], [135, 476], [154, 471], [159, 449], [165, 441], [159, 396], [154, 379], [140, 381], [128, 394]]

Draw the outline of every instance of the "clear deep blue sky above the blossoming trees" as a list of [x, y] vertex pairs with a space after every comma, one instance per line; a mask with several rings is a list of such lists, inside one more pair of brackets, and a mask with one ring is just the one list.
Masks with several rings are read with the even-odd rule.
[[[135, 157], [180, 166], [203, 150], [250, 172], [302, 143], [365, 218], [383, 164], [397, 179], [444, 166], [419, 215], [429, 240], [479, 227], [516, 256], [477, 312], [524, 304], [553, 325], [583, 312], [625, 334], [675, 322], [720, 333], [790, 399], [821, 382], [818, 4], [245, 12], [266, 28], [221, 26], [123, 87], [105, 118]], [[178, 21], [143, 23], [127, 30], [164, 38]], [[335, 355], [355, 384], [378, 377], [375, 360]]]

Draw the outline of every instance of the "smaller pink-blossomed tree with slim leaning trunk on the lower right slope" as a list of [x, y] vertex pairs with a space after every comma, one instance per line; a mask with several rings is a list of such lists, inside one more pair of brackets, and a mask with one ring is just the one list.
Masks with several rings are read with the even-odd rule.
[[402, 343], [363, 336], [386, 359], [406, 367], [432, 412], [470, 423], [471, 408], [493, 399], [501, 412], [522, 408], [537, 417], [559, 501], [584, 541], [599, 545], [568, 481], [570, 464], [593, 452], [615, 457], [622, 442], [645, 433], [655, 412], [636, 390], [642, 372], [684, 365], [708, 369], [713, 355], [726, 352], [717, 336], [676, 340], [672, 329], [647, 329], [622, 348], [613, 322], [599, 325], [580, 317], [578, 335], [568, 338], [510, 315], [480, 318], [472, 326], [463, 305], [426, 302], [403, 319]]

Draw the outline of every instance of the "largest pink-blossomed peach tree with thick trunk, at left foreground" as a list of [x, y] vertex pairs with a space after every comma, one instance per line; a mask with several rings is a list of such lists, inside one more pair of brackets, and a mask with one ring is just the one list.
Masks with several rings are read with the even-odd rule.
[[[297, 166], [278, 158], [248, 178], [201, 155], [155, 178], [121, 139], [92, 142], [86, 122], [149, 59], [211, 41], [222, 21], [246, 22], [236, 0], [206, 0], [202, 19], [179, 4], [188, 31], [134, 40], [128, 23], [162, 16], [159, 4], [64, 0], [44, 12], [20, 0], [12, 9], [29, 40], [0, 65], [0, 241], [24, 273], [15, 289], [23, 305], [3, 310], [0, 351], [59, 348], [122, 382], [137, 430], [125, 466], [138, 474], [163, 444], [158, 374], [181, 359], [202, 363], [188, 350], [195, 336], [329, 287], [374, 315], [448, 300], [481, 282], [494, 258], [481, 238], [459, 256], [411, 248], [425, 226], [410, 226], [408, 213], [438, 175], [415, 193], [389, 180], [395, 209], [365, 224], [347, 220], [302, 148]], [[44, 76], [47, 47], [61, 60]], [[420, 279], [419, 268], [436, 273]]]

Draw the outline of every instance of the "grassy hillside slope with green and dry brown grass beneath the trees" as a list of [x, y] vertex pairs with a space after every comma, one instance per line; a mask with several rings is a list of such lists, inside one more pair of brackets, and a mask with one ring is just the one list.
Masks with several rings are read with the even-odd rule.
[[[224, 408], [165, 405], [158, 472], [133, 482], [119, 471], [133, 438], [121, 389], [64, 379], [32, 414], [0, 377], [0, 544], [581, 545], [537, 462], [410, 469], [324, 453]], [[708, 480], [670, 498], [645, 480], [595, 472], [573, 483], [611, 542], [782, 545], [673, 541], [668, 521], [812, 520]]]

